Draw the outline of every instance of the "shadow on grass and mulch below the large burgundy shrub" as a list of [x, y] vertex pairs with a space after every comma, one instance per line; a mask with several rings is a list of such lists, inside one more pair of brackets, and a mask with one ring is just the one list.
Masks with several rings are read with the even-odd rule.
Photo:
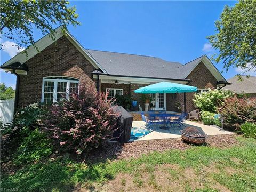
[[[18, 191], [71, 191], [80, 184], [114, 179], [111, 171], [106, 169], [108, 160], [116, 159], [122, 151], [122, 145], [110, 145], [92, 151], [90, 154], [76, 158], [64, 155], [55, 160], [28, 164], [20, 167], [13, 174], [2, 174], [1, 188], [15, 188]], [[18, 167], [17, 167], [18, 168]]]

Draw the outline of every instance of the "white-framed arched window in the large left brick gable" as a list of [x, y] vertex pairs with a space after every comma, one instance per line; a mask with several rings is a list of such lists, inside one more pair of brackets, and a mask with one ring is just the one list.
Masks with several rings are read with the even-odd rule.
[[42, 102], [52, 103], [68, 99], [70, 93], [78, 93], [78, 85], [79, 80], [72, 77], [44, 77]]

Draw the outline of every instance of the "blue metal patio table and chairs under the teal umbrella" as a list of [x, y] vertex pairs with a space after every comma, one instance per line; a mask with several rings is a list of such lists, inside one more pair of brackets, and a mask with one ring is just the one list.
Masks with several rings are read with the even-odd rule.
[[[187, 114], [170, 114], [165, 113], [165, 111], [148, 111], [141, 112], [141, 118], [146, 122], [146, 126], [149, 129], [152, 127], [153, 129], [165, 129], [169, 130], [173, 129], [175, 132], [175, 128], [183, 129], [186, 127], [183, 125]], [[143, 126], [145, 126], [143, 125]], [[170, 131], [171, 132], [171, 131]]]

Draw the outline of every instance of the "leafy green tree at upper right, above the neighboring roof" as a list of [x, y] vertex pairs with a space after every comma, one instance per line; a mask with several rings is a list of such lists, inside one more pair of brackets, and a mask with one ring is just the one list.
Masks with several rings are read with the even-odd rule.
[[256, 0], [241, 0], [234, 7], [225, 6], [215, 22], [217, 34], [208, 36], [219, 50], [215, 62], [223, 61], [226, 71], [240, 67], [256, 70]]

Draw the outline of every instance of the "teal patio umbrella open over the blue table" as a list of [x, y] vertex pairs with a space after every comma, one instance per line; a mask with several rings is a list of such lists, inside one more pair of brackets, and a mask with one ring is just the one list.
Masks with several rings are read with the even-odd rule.
[[135, 93], [184, 93], [184, 110], [186, 112], [186, 94], [196, 92], [197, 87], [179, 83], [160, 82], [134, 90]]

